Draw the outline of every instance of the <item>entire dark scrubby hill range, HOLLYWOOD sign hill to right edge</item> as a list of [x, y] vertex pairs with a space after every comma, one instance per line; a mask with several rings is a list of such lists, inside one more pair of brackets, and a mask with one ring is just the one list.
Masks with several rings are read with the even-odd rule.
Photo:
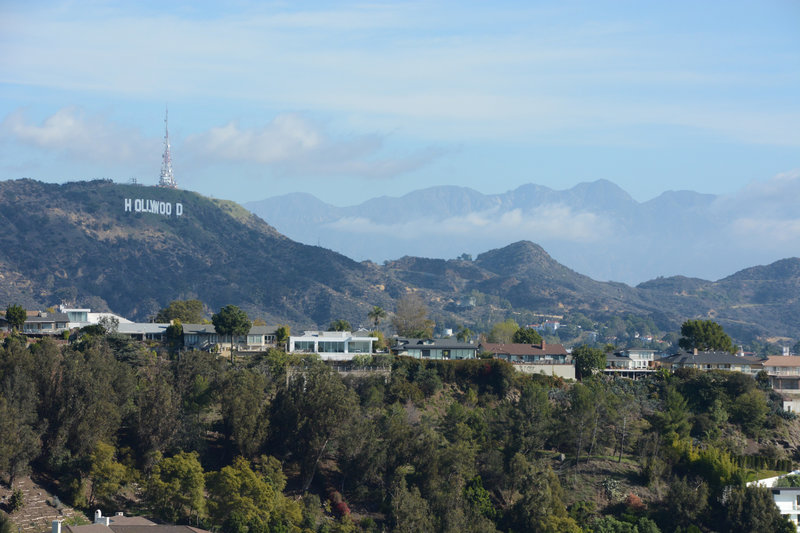
[[198, 298], [212, 310], [233, 303], [269, 324], [313, 328], [339, 318], [366, 325], [373, 305], [391, 311], [415, 292], [439, 327], [580, 312], [648, 317], [665, 331], [713, 318], [740, 341], [800, 338], [797, 258], [716, 282], [670, 277], [636, 287], [579, 274], [529, 241], [474, 260], [404, 256], [377, 265], [290, 240], [232, 202], [109, 181], [0, 182], [0, 224], [3, 308], [66, 300], [142, 320], [171, 300]]

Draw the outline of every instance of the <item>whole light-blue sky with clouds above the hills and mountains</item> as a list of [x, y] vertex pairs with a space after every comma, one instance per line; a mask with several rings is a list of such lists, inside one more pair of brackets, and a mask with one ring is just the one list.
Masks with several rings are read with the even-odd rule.
[[800, 180], [800, 2], [0, 4], [0, 179], [336, 205]]

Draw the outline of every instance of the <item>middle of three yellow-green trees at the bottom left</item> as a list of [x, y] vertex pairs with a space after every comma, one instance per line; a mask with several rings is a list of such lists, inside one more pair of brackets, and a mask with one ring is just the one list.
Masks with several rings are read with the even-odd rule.
[[159, 460], [147, 480], [146, 498], [161, 518], [170, 522], [205, 512], [205, 474], [197, 452], [180, 452]]

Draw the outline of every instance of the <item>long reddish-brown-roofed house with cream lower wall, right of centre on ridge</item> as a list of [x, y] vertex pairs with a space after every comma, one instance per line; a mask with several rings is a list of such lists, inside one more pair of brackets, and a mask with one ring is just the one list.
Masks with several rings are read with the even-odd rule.
[[544, 340], [541, 344], [483, 342], [479, 347], [481, 352], [512, 363], [519, 372], [575, 379], [572, 357], [561, 344], [548, 344]]

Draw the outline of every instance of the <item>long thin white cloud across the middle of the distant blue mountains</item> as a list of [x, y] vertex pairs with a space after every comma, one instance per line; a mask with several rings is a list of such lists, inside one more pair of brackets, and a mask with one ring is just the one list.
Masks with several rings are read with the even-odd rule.
[[386, 235], [407, 240], [470, 236], [474, 239], [502, 237], [508, 242], [558, 239], [580, 243], [602, 240], [612, 234], [610, 221], [594, 213], [573, 212], [564, 205], [537, 207], [533, 212], [491, 209], [441, 220], [420, 218], [394, 224], [350, 217], [327, 226], [354, 234]]

